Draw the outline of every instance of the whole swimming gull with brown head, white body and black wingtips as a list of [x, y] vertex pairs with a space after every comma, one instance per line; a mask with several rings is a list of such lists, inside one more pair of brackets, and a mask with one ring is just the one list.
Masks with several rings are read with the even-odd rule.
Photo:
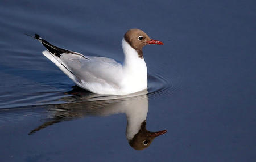
[[130, 29], [122, 39], [123, 64], [106, 57], [85, 56], [54, 46], [35, 34], [47, 50], [44, 56], [60, 68], [77, 86], [93, 93], [126, 95], [147, 88], [147, 66], [142, 48], [163, 44], [148, 37], [140, 29]]

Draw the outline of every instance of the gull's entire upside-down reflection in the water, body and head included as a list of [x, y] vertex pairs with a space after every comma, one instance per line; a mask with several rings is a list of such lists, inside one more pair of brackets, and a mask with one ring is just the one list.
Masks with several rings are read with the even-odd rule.
[[54, 105], [49, 109], [49, 121], [43, 123], [29, 134], [44, 129], [54, 123], [72, 120], [86, 116], [110, 116], [125, 113], [127, 117], [126, 138], [135, 150], [143, 150], [150, 146], [155, 137], [166, 133], [167, 130], [151, 132], [146, 130], [148, 112], [147, 91], [141, 91], [125, 96], [96, 95], [74, 87], [67, 92], [72, 96], [61, 100], [68, 104]]

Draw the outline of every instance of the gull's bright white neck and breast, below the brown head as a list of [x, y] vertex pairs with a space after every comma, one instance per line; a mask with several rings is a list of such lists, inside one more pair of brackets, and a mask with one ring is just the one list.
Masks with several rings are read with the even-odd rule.
[[122, 48], [125, 54], [122, 86], [127, 92], [137, 92], [146, 89], [147, 66], [144, 58], [140, 58], [138, 52], [132, 48], [124, 38], [122, 40]]

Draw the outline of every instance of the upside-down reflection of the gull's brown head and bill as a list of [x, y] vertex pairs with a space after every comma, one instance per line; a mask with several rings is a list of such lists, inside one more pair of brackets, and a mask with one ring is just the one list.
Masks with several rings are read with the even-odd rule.
[[155, 137], [166, 133], [167, 130], [151, 132], [146, 130], [146, 121], [142, 122], [141, 129], [134, 135], [133, 139], [129, 141], [131, 147], [135, 150], [143, 150], [150, 146]]

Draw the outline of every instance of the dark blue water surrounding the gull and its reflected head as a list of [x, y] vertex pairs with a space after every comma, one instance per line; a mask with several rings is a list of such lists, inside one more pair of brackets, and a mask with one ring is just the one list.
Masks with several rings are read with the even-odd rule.
[[[255, 1], [0, 1], [0, 161], [255, 161]], [[24, 33], [122, 61], [143, 29], [148, 91], [77, 88]], [[137, 113], [138, 112], [138, 113]], [[167, 133], [141, 151], [129, 113]]]

